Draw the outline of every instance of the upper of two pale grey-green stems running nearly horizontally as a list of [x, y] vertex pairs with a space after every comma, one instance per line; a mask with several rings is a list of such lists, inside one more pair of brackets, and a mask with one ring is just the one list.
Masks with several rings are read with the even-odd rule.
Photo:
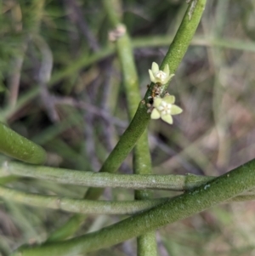
[[[143, 157], [143, 156], [141, 156]], [[145, 168], [145, 167], [144, 167]], [[150, 167], [149, 167], [150, 168]], [[2, 162], [0, 177], [18, 175], [45, 179], [61, 184], [84, 185], [92, 187], [127, 188], [135, 190], [189, 191], [215, 177], [159, 174], [109, 174], [77, 171], [64, 168], [33, 166], [21, 162]]]

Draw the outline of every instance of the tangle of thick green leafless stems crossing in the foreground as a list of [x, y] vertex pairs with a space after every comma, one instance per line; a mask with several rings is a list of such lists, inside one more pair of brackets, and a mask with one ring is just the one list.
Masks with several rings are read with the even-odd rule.
[[[117, 10], [113, 8], [115, 6], [113, 2], [112, 0], [103, 2], [105, 11], [113, 29], [119, 26], [123, 28], [121, 18]], [[184, 19], [173, 38], [173, 43], [161, 63], [161, 70], [168, 65], [172, 73], [176, 71], [195, 34], [205, 4], [206, 0], [190, 1]], [[133, 43], [126, 30], [121, 37], [116, 38], [115, 48], [122, 66], [130, 124], [100, 168], [99, 174], [36, 167], [14, 162], [2, 162], [1, 164], [0, 196], [6, 200], [78, 213], [59, 230], [55, 230], [48, 236], [44, 244], [20, 247], [13, 255], [77, 255], [109, 247], [136, 236], [138, 237], [138, 254], [152, 256], [156, 255], [155, 230], [157, 228], [199, 213], [218, 203], [248, 200], [254, 197], [254, 161], [247, 162], [240, 168], [235, 168], [217, 178], [152, 174], [146, 128], [150, 122], [148, 105], [155, 84], [150, 83], [144, 99], [140, 100], [139, 77], [133, 60]], [[92, 59], [103, 58], [112, 51], [113, 49], [110, 48], [104, 54], [101, 53], [99, 56], [95, 54]], [[54, 83], [54, 79], [49, 83]], [[163, 84], [161, 94], [165, 94], [166, 90], [167, 84]], [[35, 94], [37, 91], [33, 91], [31, 97]], [[33, 164], [42, 164], [45, 161], [46, 153], [42, 147], [14, 133], [3, 123], [0, 123], [0, 134], [0, 151], [4, 154]], [[134, 174], [115, 174], [132, 150]], [[3, 186], [4, 183], [19, 179], [18, 176], [92, 187], [88, 189], [84, 199], [77, 200], [59, 196], [33, 195]], [[105, 186], [133, 189], [135, 201], [98, 201]], [[151, 191], [156, 189], [184, 191], [184, 193], [173, 198], [152, 199]], [[129, 214], [131, 216], [103, 230], [64, 241], [66, 237], [73, 235], [82, 221], [86, 219], [84, 213]], [[136, 214], [133, 215], [134, 213]]]

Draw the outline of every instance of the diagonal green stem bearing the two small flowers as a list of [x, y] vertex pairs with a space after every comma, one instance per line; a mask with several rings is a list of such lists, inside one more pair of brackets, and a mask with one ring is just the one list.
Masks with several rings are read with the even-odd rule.
[[[190, 41], [195, 34], [195, 30], [198, 26], [199, 21], [201, 20], [201, 14], [205, 7], [206, 0], [198, 0], [196, 3], [195, 10], [192, 14], [192, 19], [189, 20], [189, 8], [187, 9], [186, 14], [184, 15], [184, 19], [177, 31], [173, 44], [169, 48], [165, 59], [163, 60], [162, 66], [168, 64], [171, 68], [171, 71], [174, 72], [182, 57], [184, 56], [188, 46], [190, 45]], [[189, 31], [185, 31], [189, 30]], [[176, 57], [176, 53], [178, 53], [180, 57]], [[174, 58], [177, 58], [176, 60]], [[122, 134], [121, 139], [118, 141], [117, 145], [111, 151], [111, 154], [105, 160], [102, 168], [100, 168], [100, 172], [111, 172], [115, 173], [117, 168], [120, 167], [122, 162], [125, 160], [127, 155], [132, 151], [134, 145], [137, 143], [140, 136], [144, 133], [145, 128], [147, 128], [148, 123], [150, 122], [150, 114], [147, 112], [148, 108], [146, 106], [149, 103], [149, 96], [151, 95], [153, 88], [153, 84], [150, 84], [150, 88], [147, 90], [145, 94], [144, 100], [139, 103], [139, 107], [133, 117], [132, 122], [128, 126], [127, 130]], [[97, 199], [101, 193], [102, 189], [91, 189], [88, 191], [86, 198], [87, 199]], [[72, 230], [76, 230], [75, 225], [79, 226], [82, 222], [81, 216], [76, 216], [71, 219], [72, 222]], [[69, 227], [70, 225], [67, 224]], [[66, 236], [70, 236], [70, 231], [65, 229], [65, 225], [61, 227], [60, 230], [54, 232], [52, 236], [49, 237], [50, 240], [55, 239], [53, 237], [65, 238]]]

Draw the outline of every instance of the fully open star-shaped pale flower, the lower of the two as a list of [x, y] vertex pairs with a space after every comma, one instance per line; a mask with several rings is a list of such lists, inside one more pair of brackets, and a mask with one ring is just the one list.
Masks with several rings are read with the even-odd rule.
[[173, 115], [180, 114], [183, 110], [177, 105], [173, 105], [175, 97], [166, 95], [164, 98], [155, 98], [153, 102], [154, 109], [150, 114], [151, 119], [161, 119], [170, 124], [173, 123]]

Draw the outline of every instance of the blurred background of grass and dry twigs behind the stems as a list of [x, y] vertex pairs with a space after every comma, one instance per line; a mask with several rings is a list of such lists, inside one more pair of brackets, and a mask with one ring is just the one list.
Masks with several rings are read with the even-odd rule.
[[[187, 8], [184, 0], [116, 1], [133, 38], [141, 99], [152, 61], [161, 63]], [[184, 112], [173, 126], [151, 121], [155, 174], [220, 175], [254, 158], [255, 3], [208, 1], [168, 89]], [[0, 120], [48, 151], [47, 165], [97, 171], [127, 128], [122, 73], [99, 1], [0, 2]], [[1, 134], [0, 134], [1, 135]], [[4, 156], [3, 156], [4, 157]], [[120, 173], [132, 173], [132, 157]], [[0, 180], [1, 181], [1, 180]], [[84, 188], [35, 179], [24, 191], [82, 198]], [[226, 188], [227, 189], [227, 188]], [[155, 196], [172, 196], [156, 191]], [[105, 199], [133, 191], [105, 190]], [[212, 208], [157, 232], [166, 255], [255, 255], [254, 202]], [[0, 255], [42, 242], [70, 213], [0, 199]], [[78, 234], [119, 217], [90, 216]], [[88, 255], [136, 255], [135, 239]]]

